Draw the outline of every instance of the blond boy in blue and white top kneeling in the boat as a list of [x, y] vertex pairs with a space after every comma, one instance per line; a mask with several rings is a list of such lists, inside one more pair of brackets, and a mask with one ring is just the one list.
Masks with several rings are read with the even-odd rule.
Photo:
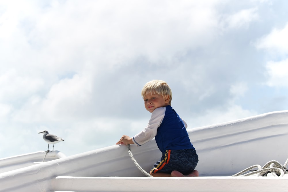
[[145, 108], [152, 113], [144, 130], [133, 138], [123, 135], [116, 144], [141, 146], [155, 137], [162, 158], [150, 171], [152, 176], [199, 176], [194, 170], [198, 155], [186, 131], [187, 124], [172, 109], [172, 92], [165, 81], [146, 83], [141, 95]]

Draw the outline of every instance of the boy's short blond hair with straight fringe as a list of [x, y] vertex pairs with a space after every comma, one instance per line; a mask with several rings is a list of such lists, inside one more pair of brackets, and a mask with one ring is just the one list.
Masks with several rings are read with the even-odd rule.
[[165, 81], [152, 80], [147, 82], [141, 91], [142, 98], [145, 98], [148, 93], [162, 95], [164, 98], [169, 95], [169, 104], [171, 105], [172, 91]]

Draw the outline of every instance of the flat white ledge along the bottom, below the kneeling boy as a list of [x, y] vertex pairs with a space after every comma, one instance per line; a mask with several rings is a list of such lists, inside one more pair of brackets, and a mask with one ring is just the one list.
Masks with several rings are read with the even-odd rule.
[[288, 177], [64, 177], [52, 180], [52, 190], [95, 192], [271, 192], [287, 191]]

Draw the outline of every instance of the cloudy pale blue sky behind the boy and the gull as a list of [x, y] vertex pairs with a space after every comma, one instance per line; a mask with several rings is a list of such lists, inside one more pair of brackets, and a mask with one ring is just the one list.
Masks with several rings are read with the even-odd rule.
[[46, 151], [43, 130], [67, 156], [134, 136], [151, 116], [141, 90], [153, 79], [168, 83], [188, 129], [288, 110], [287, 7], [0, 1], [0, 158]]

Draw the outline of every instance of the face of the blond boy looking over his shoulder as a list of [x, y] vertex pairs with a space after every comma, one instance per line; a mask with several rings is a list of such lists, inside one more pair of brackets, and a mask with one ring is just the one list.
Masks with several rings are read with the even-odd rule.
[[152, 113], [158, 107], [169, 105], [169, 95], [163, 97], [162, 95], [147, 93], [144, 97], [144, 104], [146, 110]]

